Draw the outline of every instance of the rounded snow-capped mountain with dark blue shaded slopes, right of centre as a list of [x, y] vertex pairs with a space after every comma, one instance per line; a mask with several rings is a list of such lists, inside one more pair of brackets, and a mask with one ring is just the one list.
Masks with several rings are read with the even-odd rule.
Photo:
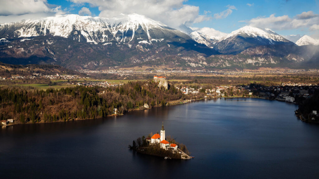
[[224, 54], [238, 54], [249, 47], [293, 44], [270, 29], [245, 26], [231, 32], [217, 43], [217, 49]]

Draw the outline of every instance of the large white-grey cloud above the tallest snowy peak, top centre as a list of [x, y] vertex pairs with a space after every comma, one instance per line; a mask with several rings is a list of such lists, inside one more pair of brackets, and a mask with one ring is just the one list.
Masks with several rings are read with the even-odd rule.
[[186, 0], [70, 0], [75, 4], [88, 3], [98, 7], [99, 17], [111, 18], [119, 14], [137, 13], [148, 18], [158, 20], [164, 24], [177, 28], [180, 25], [209, 20], [206, 15], [199, 15], [199, 7], [184, 4]]

